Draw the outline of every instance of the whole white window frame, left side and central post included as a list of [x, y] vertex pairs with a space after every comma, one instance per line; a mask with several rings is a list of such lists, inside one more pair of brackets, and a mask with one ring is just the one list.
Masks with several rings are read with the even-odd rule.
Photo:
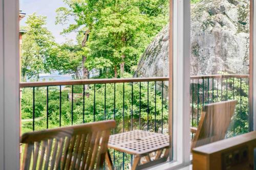
[[[18, 0], [0, 0], [0, 169], [19, 169]], [[190, 0], [170, 0], [173, 10], [173, 162], [152, 169], [177, 169], [190, 164], [189, 81]], [[253, 3], [253, 9], [256, 8]], [[253, 12], [254, 23], [256, 15]], [[254, 28], [253, 28], [254, 30]], [[253, 35], [253, 40], [256, 35]], [[253, 44], [253, 49], [256, 44]], [[256, 75], [256, 60], [253, 72]], [[170, 67], [171, 68], [171, 67]], [[253, 82], [256, 89], [256, 79]], [[256, 96], [256, 90], [253, 90]], [[254, 100], [254, 130], [256, 104]]]

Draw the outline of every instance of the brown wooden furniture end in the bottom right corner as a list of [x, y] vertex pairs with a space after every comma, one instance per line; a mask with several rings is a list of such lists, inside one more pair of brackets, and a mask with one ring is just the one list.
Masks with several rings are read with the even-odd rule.
[[256, 131], [206, 144], [193, 149], [193, 169], [253, 170], [255, 151]]

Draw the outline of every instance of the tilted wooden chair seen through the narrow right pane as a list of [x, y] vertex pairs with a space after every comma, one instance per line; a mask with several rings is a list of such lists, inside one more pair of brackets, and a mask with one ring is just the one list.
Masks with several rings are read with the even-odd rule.
[[225, 138], [236, 104], [236, 100], [230, 100], [203, 107], [198, 128], [190, 128], [192, 133], [196, 133], [191, 150]]

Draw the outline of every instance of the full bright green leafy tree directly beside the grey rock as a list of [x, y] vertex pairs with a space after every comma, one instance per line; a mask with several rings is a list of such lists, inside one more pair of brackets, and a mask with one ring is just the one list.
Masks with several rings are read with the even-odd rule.
[[[160, 4], [166, 8], [166, 2], [161, 1]], [[91, 32], [89, 56], [93, 60], [98, 57], [109, 59], [113, 63], [114, 77], [117, 78], [119, 66], [122, 77], [125, 70], [131, 72], [132, 66], [137, 65], [147, 44], [167, 23], [167, 17], [164, 17], [167, 10], [154, 13], [152, 9], [147, 12], [141, 8], [141, 1], [136, 0], [112, 1], [111, 4], [101, 10], [100, 18]]]

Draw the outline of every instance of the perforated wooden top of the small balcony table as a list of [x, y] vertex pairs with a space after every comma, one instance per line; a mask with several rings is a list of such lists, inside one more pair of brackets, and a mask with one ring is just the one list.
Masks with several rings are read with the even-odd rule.
[[134, 130], [111, 135], [108, 147], [132, 155], [143, 155], [169, 147], [169, 135]]

